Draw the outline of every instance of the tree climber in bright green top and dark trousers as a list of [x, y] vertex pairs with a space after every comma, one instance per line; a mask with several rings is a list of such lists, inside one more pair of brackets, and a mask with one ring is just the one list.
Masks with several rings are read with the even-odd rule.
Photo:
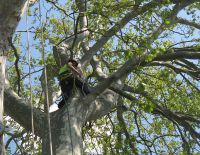
[[62, 108], [67, 99], [72, 95], [75, 88], [79, 88], [83, 95], [90, 93], [86, 83], [83, 81], [83, 73], [78, 68], [78, 62], [70, 59], [59, 71], [59, 81], [62, 91], [62, 100], [58, 103], [58, 108]]

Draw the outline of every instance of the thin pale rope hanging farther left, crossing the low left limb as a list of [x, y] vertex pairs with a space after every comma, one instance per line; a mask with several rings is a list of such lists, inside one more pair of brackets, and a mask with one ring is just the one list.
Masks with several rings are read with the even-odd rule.
[[[33, 96], [32, 96], [32, 81], [31, 81], [31, 51], [30, 51], [30, 37], [29, 37], [29, 29], [28, 29], [28, 9], [29, 9], [29, 0], [27, 1], [26, 6], [26, 34], [27, 34], [27, 50], [28, 50], [28, 66], [29, 66], [29, 90], [30, 90], [30, 105], [31, 105], [31, 130], [32, 130], [32, 141], [33, 141], [33, 148], [35, 147], [35, 141], [34, 141], [34, 116], [33, 116]], [[33, 151], [33, 150], [32, 150]], [[34, 153], [34, 152], [33, 152]]]

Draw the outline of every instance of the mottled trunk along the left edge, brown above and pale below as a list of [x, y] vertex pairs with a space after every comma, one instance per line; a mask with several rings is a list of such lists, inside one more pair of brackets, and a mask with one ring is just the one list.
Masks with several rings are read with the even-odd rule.
[[8, 40], [12, 37], [20, 20], [26, 0], [0, 0], [0, 155], [3, 153], [3, 103]]

